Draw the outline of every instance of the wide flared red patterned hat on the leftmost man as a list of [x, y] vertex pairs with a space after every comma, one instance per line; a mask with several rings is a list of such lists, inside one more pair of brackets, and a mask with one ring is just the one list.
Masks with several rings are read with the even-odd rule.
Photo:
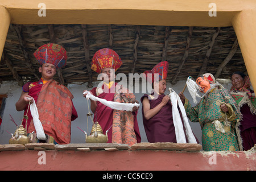
[[34, 52], [35, 58], [43, 65], [51, 63], [56, 69], [64, 67], [67, 64], [67, 51], [59, 44], [48, 43], [36, 49]]

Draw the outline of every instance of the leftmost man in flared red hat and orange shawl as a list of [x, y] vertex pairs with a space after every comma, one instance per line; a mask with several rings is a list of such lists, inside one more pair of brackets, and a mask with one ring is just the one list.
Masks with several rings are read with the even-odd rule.
[[[48, 43], [39, 47], [34, 56], [41, 67], [42, 77], [36, 82], [23, 85], [22, 94], [16, 102], [16, 110], [24, 110], [22, 125], [32, 135], [32, 142], [68, 144], [71, 141], [71, 121], [77, 118], [73, 95], [59, 82], [53, 80], [56, 69], [67, 63], [67, 51], [58, 44]], [[36, 138], [36, 130], [29, 107], [34, 98], [46, 140]]]

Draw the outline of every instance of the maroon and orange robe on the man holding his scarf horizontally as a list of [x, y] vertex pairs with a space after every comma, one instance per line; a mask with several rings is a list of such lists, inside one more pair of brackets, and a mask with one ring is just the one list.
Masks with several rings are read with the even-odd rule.
[[[104, 85], [102, 85], [103, 88]], [[117, 90], [114, 93], [105, 93], [102, 89], [102, 93], [97, 92], [97, 87], [90, 90], [92, 94], [98, 98], [105, 99], [107, 101], [115, 101], [121, 103], [134, 103], [135, 96], [132, 93], [123, 93], [121, 90], [124, 88], [119, 88], [117, 82], [112, 86], [116, 86]], [[97, 107], [94, 112], [94, 122], [98, 121], [101, 125], [103, 133], [105, 134], [107, 130], [108, 133], [108, 143], [126, 143], [129, 146], [140, 143], [141, 135], [139, 133], [138, 121], [137, 121], [137, 111], [121, 111], [113, 110], [108, 106], [105, 106], [101, 102], [97, 101]]]

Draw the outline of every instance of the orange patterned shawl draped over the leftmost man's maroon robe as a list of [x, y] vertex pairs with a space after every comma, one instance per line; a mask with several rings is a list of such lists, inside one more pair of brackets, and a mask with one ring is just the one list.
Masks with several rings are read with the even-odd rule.
[[[36, 106], [44, 132], [52, 136], [58, 144], [71, 140], [72, 93], [54, 80], [43, 84]], [[31, 121], [28, 133], [35, 131]]]

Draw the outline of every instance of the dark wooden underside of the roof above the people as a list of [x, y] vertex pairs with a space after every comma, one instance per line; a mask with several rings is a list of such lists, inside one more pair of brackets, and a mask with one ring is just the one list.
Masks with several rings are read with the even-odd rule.
[[67, 49], [67, 65], [55, 77], [65, 85], [88, 82], [92, 86], [97, 81], [90, 65], [101, 48], [112, 48], [121, 57], [123, 65], [117, 73], [141, 74], [167, 60], [172, 84], [205, 72], [216, 78], [246, 72], [233, 27], [11, 24], [0, 62], [0, 81], [16, 80], [23, 85], [38, 80], [39, 63], [33, 52], [49, 42]]

